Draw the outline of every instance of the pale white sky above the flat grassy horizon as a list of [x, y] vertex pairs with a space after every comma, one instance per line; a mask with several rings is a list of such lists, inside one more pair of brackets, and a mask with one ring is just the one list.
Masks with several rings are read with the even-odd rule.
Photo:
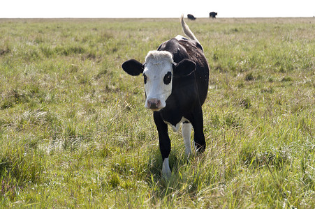
[[0, 0], [0, 18], [314, 17], [315, 0]]

